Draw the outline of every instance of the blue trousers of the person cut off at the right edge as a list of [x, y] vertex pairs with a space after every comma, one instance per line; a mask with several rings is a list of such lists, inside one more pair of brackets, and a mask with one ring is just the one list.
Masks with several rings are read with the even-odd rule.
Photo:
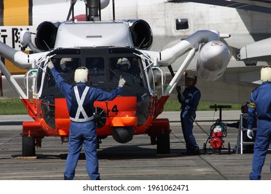
[[266, 152], [268, 152], [270, 140], [271, 140], [271, 122], [258, 120], [256, 142], [254, 145], [254, 155], [252, 161], [252, 173], [250, 173], [249, 179], [251, 180], [261, 179], [261, 170], [265, 162]]

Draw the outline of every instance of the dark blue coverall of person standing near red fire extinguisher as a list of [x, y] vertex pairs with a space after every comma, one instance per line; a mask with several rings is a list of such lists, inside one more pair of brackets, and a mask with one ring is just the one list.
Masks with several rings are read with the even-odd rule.
[[183, 137], [186, 141], [186, 152], [193, 152], [194, 150], [199, 149], [197, 145], [195, 136], [192, 133], [194, 120], [196, 118], [197, 105], [199, 105], [199, 99], [201, 93], [195, 85], [186, 87], [183, 91], [183, 97], [185, 101], [181, 103], [181, 127], [183, 129]]

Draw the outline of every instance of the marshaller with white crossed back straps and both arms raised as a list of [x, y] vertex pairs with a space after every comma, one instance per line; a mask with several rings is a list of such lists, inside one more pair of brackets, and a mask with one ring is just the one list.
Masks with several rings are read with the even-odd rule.
[[106, 92], [95, 87], [88, 87], [88, 69], [79, 67], [74, 72], [76, 86], [67, 84], [60, 73], [49, 62], [47, 67], [55, 78], [56, 85], [67, 100], [69, 118], [69, 148], [65, 164], [64, 179], [72, 180], [75, 175], [75, 168], [79, 159], [81, 148], [84, 144], [86, 170], [90, 179], [100, 179], [99, 165], [97, 159], [97, 134], [93, 116], [93, 103], [95, 100], [113, 100], [125, 84], [124, 78], [120, 78], [119, 85], [111, 92]]

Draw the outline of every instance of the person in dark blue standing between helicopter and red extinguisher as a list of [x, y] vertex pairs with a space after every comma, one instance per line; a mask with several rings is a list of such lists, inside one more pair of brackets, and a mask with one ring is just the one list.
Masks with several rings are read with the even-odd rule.
[[199, 105], [201, 97], [199, 89], [195, 87], [196, 82], [197, 76], [190, 74], [186, 77], [186, 89], [184, 89], [183, 94], [181, 94], [180, 88], [177, 89], [177, 98], [179, 103], [181, 103], [181, 127], [184, 140], [186, 141], [186, 152], [183, 152], [183, 155], [200, 155], [199, 145], [197, 145], [192, 132], [197, 105]]

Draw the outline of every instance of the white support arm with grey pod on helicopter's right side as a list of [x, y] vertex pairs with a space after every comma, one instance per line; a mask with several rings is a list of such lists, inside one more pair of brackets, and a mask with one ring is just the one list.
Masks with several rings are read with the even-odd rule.
[[216, 30], [199, 30], [181, 40], [178, 44], [161, 52], [142, 51], [147, 53], [151, 59], [156, 61], [154, 64], [160, 67], [171, 65], [181, 55], [190, 51], [163, 95], [167, 96], [172, 93], [176, 83], [179, 82], [192, 58], [194, 58], [195, 53], [199, 51], [199, 44], [204, 44], [204, 46], [200, 49], [197, 58], [197, 76], [208, 81], [217, 80], [223, 76], [229, 64], [231, 53], [227, 45], [220, 42], [220, 37], [226, 38], [230, 37], [230, 35], [220, 34]]

